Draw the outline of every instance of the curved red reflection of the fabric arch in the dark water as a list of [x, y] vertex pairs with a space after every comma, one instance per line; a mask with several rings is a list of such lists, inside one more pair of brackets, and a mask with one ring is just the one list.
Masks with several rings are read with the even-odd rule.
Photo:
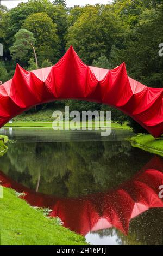
[[0, 172], [3, 186], [26, 193], [24, 199], [33, 205], [53, 209], [51, 216], [60, 217], [65, 227], [86, 235], [115, 227], [124, 234], [128, 233], [130, 219], [153, 207], [163, 207], [158, 197], [159, 186], [163, 184], [163, 163], [154, 157], [147, 165], [155, 165], [157, 170], [140, 171], [131, 180], [105, 193], [87, 195], [83, 198], [57, 198], [36, 193], [12, 181]]

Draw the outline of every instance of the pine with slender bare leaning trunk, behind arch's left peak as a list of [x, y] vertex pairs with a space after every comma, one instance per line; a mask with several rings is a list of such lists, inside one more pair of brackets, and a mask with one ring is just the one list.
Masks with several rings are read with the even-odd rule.
[[35, 38], [33, 33], [27, 29], [20, 29], [15, 35], [15, 43], [10, 47], [11, 56], [13, 59], [23, 60], [27, 56], [32, 47], [36, 68], [38, 68], [37, 56], [34, 48]]

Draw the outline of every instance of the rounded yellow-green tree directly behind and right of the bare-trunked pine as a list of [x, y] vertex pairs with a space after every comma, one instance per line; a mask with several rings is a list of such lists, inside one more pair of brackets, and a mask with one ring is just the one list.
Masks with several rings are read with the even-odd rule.
[[57, 25], [46, 13], [29, 15], [23, 22], [23, 28], [34, 33], [40, 63], [46, 58], [52, 62], [58, 61], [60, 40], [57, 35]]

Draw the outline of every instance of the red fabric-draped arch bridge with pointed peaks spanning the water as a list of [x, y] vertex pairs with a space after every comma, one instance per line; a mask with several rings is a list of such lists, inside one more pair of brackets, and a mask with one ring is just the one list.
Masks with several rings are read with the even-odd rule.
[[120, 109], [158, 137], [163, 133], [163, 88], [128, 77], [125, 64], [113, 70], [86, 66], [71, 46], [53, 67], [27, 72], [18, 64], [0, 86], [0, 127], [34, 105], [57, 99], [92, 100]]

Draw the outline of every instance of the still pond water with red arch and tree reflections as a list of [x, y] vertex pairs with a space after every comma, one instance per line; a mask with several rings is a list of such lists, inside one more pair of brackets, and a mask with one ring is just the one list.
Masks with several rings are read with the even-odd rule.
[[163, 158], [131, 147], [131, 132], [5, 128], [14, 143], [0, 158], [4, 186], [51, 209], [93, 245], [162, 245]]

